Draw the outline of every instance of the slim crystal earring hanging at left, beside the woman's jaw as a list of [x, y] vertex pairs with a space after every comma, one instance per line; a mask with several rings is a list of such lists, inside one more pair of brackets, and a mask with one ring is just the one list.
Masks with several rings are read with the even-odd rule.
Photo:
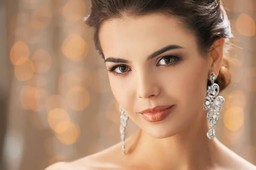
[[120, 137], [121, 137], [121, 141], [122, 141], [122, 153], [125, 154], [125, 127], [127, 126], [127, 121], [129, 119], [129, 117], [120, 105], [119, 105], [119, 111], [121, 112]]

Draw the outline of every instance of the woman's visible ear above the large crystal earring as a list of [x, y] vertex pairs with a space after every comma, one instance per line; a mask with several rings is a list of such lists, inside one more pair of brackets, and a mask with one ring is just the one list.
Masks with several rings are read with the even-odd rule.
[[209, 72], [213, 71], [217, 77], [223, 63], [223, 49], [224, 38], [216, 40], [210, 47], [209, 55], [212, 58], [212, 65]]

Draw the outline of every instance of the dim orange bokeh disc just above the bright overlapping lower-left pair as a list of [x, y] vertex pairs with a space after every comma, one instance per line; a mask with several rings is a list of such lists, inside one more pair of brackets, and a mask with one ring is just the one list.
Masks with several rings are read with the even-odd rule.
[[61, 108], [63, 110], [66, 110], [67, 102], [63, 96], [54, 94], [47, 97], [45, 102], [45, 107], [48, 113], [56, 108]]

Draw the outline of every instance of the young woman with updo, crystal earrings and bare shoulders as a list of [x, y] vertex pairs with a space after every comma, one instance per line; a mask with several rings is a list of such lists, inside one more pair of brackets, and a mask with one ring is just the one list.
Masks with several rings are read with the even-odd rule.
[[[47, 170], [256, 170], [215, 137], [233, 37], [219, 0], [92, 0], [122, 142]], [[140, 127], [125, 139], [127, 119]]]

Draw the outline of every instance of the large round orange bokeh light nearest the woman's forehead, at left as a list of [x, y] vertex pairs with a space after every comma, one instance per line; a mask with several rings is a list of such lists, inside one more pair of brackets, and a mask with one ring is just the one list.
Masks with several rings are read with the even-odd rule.
[[87, 56], [88, 45], [78, 34], [71, 34], [64, 40], [62, 52], [73, 61], [81, 61]]

